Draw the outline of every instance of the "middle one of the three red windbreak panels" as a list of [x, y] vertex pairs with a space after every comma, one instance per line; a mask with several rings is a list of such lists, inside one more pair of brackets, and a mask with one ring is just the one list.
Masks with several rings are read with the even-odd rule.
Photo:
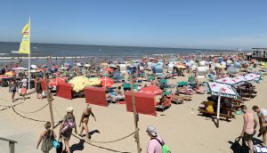
[[106, 99], [106, 88], [85, 87], [85, 102], [98, 106], [108, 106]]

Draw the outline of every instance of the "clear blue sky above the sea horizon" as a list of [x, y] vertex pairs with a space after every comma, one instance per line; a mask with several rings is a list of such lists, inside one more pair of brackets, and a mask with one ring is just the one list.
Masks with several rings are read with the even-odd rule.
[[3, 0], [0, 41], [249, 49], [267, 47], [266, 0]]

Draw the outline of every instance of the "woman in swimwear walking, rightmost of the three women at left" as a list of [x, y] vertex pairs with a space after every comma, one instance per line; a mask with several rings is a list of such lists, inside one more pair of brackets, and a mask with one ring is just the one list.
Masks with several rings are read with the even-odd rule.
[[89, 122], [89, 117], [92, 115], [94, 118], [94, 121], [96, 122], [96, 118], [93, 115], [92, 108], [89, 104], [86, 105], [86, 109], [83, 111], [82, 117], [80, 119], [79, 127], [82, 125], [81, 132], [79, 133], [80, 136], [82, 136], [84, 130], [85, 130], [85, 141], [89, 142], [89, 128], [88, 128], [88, 122]]

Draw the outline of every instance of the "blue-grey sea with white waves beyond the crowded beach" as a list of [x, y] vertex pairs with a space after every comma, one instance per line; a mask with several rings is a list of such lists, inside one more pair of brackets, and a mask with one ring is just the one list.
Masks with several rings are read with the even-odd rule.
[[[25, 54], [18, 52], [20, 43], [0, 42], [0, 63], [22, 62], [28, 60]], [[64, 60], [73, 62], [73, 60], [83, 59], [85, 57], [96, 57], [108, 60], [124, 60], [125, 58], [140, 58], [144, 56], [157, 55], [185, 55], [189, 53], [215, 53], [232, 52], [229, 50], [212, 49], [190, 49], [190, 48], [160, 48], [160, 47], [136, 47], [136, 46], [111, 46], [111, 45], [85, 45], [85, 44], [31, 44], [31, 63], [39, 64], [46, 62], [47, 57], [53, 57], [52, 62]]]

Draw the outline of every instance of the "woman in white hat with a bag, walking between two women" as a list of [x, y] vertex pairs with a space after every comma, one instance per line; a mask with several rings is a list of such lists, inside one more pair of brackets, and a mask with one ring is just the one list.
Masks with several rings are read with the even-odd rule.
[[60, 127], [60, 136], [62, 137], [64, 144], [65, 144], [65, 150], [67, 150], [67, 153], [70, 153], [69, 149], [69, 139], [72, 133], [72, 129], [75, 128], [75, 133], [77, 134], [77, 126], [75, 117], [73, 115], [73, 108], [69, 107], [67, 109], [67, 115], [63, 117]]

